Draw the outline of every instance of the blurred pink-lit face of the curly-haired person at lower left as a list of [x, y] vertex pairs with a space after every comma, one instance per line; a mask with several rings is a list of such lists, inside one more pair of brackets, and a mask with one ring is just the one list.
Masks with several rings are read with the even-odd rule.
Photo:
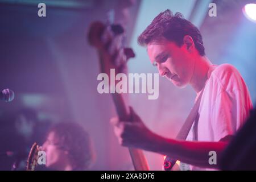
[[67, 152], [59, 145], [59, 140], [54, 132], [48, 134], [42, 150], [46, 152], [46, 167], [60, 169], [63, 166], [64, 160], [67, 159]]

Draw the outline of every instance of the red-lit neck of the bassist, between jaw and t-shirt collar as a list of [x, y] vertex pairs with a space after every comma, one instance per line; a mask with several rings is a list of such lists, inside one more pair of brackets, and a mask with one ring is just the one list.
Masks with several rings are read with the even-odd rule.
[[210, 63], [210, 60], [206, 56], [200, 56], [195, 60], [195, 68], [190, 85], [196, 93], [199, 93], [204, 88], [205, 82], [208, 79], [210, 65], [212, 65], [212, 63]]

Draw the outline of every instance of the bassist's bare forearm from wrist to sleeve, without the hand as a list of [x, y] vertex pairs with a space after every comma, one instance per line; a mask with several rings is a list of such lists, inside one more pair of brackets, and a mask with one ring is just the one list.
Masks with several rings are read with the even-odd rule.
[[[228, 145], [231, 136], [221, 139], [219, 142], [189, 142], [183, 140], [167, 139], [153, 134], [152, 142], [144, 146], [144, 150], [168, 155], [181, 162], [202, 168], [218, 168], [221, 154]], [[216, 164], [210, 164], [210, 151], [216, 152]]]

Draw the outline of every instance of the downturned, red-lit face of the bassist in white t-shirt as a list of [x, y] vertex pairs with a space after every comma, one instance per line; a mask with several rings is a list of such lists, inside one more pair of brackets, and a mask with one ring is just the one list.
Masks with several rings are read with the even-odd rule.
[[180, 88], [189, 84], [195, 59], [185, 44], [178, 47], [173, 42], [163, 40], [158, 44], [148, 44], [147, 53], [151, 63], [158, 68], [160, 76], [165, 76]]

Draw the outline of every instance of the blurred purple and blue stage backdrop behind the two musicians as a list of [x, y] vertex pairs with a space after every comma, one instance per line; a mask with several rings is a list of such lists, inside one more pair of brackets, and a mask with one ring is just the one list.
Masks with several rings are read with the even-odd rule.
[[[38, 16], [40, 2], [46, 3], [46, 17]], [[211, 2], [217, 5], [216, 17], [208, 15]], [[93, 170], [133, 169], [109, 124], [116, 115], [112, 98], [97, 92], [100, 65], [86, 38], [90, 23], [106, 22], [108, 16], [124, 26], [127, 46], [136, 54], [129, 73], [158, 73], [137, 37], [160, 12], [182, 13], [199, 27], [212, 63], [230, 63], [240, 71], [255, 103], [256, 23], [242, 11], [247, 3], [256, 1], [0, 0], [0, 89], [15, 92], [12, 102], [0, 102], [0, 154], [17, 152], [0, 155], [0, 170], [10, 170], [20, 155], [26, 158], [32, 143], [43, 143], [52, 123], [64, 121], [79, 122], [90, 134], [97, 156]], [[160, 77], [157, 100], [129, 94], [129, 103], [152, 131], [170, 138], [195, 96], [190, 86], [178, 89]], [[162, 155], [144, 153], [152, 170], [162, 169]]]

